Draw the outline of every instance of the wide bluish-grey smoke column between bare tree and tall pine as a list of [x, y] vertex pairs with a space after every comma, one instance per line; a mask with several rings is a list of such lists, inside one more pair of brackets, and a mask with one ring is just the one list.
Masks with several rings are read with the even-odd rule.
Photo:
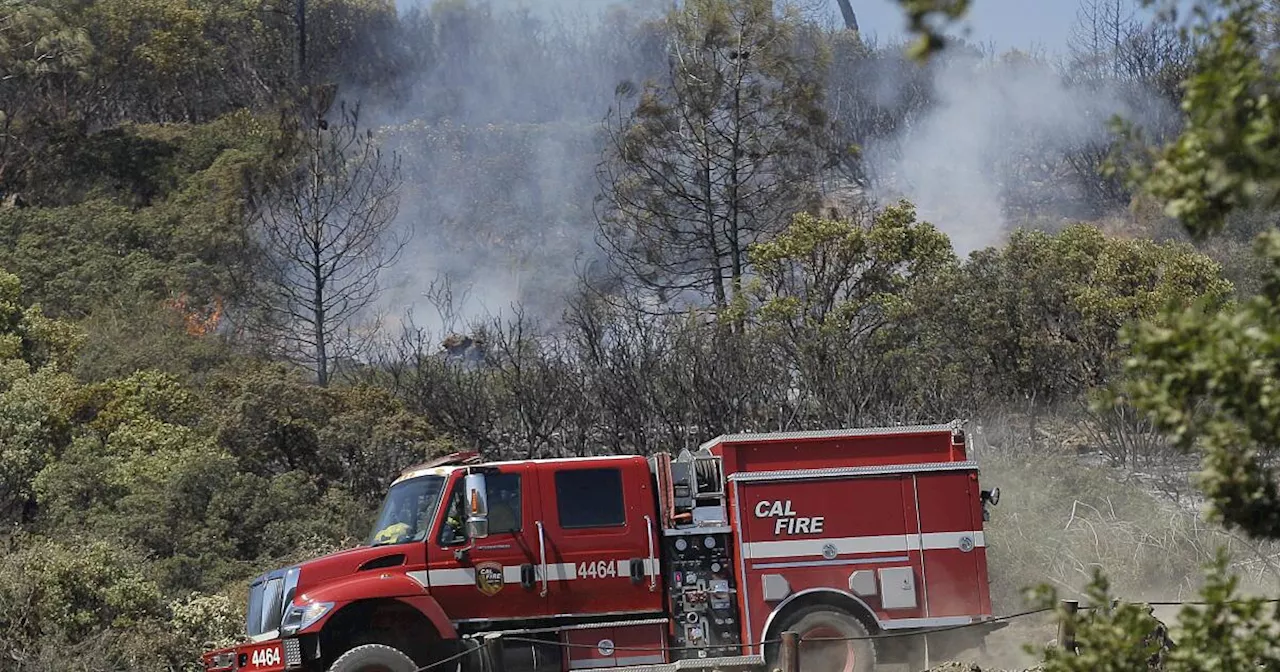
[[410, 243], [376, 306], [390, 325], [411, 314], [433, 335], [466, 330], [517, 305], [558, 316], [599, 260], [600, 122], [618, 82], [652, 69], [636, 28], [660, 4], [399, 0], [421, 67], [366, 108], [404, 172]]

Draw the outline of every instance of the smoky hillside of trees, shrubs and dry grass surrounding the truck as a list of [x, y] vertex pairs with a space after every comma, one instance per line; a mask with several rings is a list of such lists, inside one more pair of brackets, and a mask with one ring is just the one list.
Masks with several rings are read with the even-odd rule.
[[305, 47], [291, 4], [0, 0], [0, 669], [198, 669], [445, 451], [954, 417], [997, 612], [1204, 591], [1170, 664], [1275, 664], [1224, 600], [1277, 579], [1280, 6], [1211, 4], [1084, 0], [1041, 56], [767, 0], [311, 0]]

